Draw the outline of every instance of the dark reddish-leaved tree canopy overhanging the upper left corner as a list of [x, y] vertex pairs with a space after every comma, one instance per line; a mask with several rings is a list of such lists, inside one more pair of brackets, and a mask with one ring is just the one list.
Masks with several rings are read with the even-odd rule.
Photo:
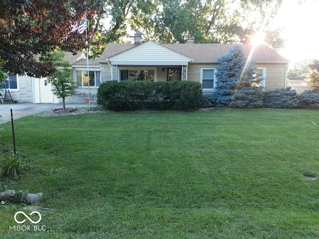
[[[12, 74], [47, 76], [55, 69], [42, 55], [56, 47], [75, 52], [85, 47], [86, 35], [68, 34], [86, 14], [93, 19], [101, 14], [96, 0], [1, 0], [0, 58]], [[88, 39], [92, 36], [89, 32]]]

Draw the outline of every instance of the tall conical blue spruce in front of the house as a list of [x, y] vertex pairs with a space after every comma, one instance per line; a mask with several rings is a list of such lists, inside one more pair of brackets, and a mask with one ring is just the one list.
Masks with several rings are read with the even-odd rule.
[[262, 107], [262, 76], [247, 58], [240, 45], [217, 58], [216, 91], [213, 93], [218, 107]]

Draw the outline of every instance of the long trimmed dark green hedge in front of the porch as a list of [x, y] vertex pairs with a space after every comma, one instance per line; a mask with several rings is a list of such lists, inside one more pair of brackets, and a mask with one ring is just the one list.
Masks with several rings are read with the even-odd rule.
[[107, 81], [97, 93], [97, 103], [112, 111], [197, 110], [201, 98], [193, 81]]

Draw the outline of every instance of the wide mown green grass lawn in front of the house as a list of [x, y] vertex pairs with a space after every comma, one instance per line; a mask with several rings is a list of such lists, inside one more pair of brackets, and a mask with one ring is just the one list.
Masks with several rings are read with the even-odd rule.
[[[319, 237], [319, 111], [214, 109], [26, 117], [28, 170], [6, 189], [44, 192], [45, 232], [4, 239]], [[11, 128], [0, 147], [11, 150]], [[29, 223], [30, 224], [30, 223]], [[27, 223], [25, 223], [27, 225]], [[31, 225], [31, 224], [30, 224]], [[32, 225], [31, 225], [32, 226]]]

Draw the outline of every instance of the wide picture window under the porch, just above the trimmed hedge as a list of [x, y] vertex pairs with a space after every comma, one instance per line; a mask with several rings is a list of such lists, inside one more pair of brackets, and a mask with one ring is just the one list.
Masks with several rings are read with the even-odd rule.
[[155, 70], [120, 70], [121, 81], [152, 81], [154, 82]]

